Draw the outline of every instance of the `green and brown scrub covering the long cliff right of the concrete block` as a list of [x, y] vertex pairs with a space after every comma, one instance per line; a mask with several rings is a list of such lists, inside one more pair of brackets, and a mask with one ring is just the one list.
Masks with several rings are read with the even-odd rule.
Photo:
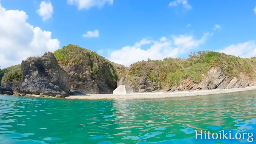
[[246, 59], [213, 51], [200, 51], [189, 54], [188, 59], [165, 58], [136, 62], [130, 66], [128, 79], [136, 86], [136, 76], [146, 75], [160, 89], [177, 86], [186, 79], [199, 83], [211, 68], [222, 65], [227, 65], [223, 70], [227, 76], [239, 77], [243, 74], [252, 79], [255, 77], [255, 62], [255, 58]]

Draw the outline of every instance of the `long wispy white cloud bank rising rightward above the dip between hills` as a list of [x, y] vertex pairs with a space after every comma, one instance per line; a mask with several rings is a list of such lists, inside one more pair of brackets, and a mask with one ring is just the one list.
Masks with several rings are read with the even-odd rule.
[[[160, 40], [142, 39], [133, 46], [125, 46], [120, 50], [110, 53], [109, 60], [129, 66], [130, 64], [147, 60], [163, 60], [166, 57], [178, 57], [179, 54], [187, 53], [188, 50], [196, 48], [206, 41], [209, 33], [205, 33], [199, 40], [191, 35], [174, 35], [171, 39], [161, 37]], [[148, 48], [142, 49], [142, 45], [148, 45]]]

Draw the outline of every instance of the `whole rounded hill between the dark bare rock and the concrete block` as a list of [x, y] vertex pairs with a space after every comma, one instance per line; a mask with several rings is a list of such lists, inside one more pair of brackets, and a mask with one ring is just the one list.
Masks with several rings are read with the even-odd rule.
[[54, 52], [68, 73], [71, 93], [113, 93], [118, 76], [113, 65], [95, 52], [69, 44]]

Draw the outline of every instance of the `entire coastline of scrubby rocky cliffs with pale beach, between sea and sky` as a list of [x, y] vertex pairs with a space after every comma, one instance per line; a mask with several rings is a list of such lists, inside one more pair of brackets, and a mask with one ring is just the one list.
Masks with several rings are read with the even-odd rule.
[[[20, 65], [0, 70], [0, 94], [126, 98], [105, 95], [112, 94], [119, 84], [131, 88], [133, 94], [127, 95], [127, 98], [208, 95], [255, 86], [255, 71], [255, 57], [240, 58], [214, 51], [194, 52], [189, 54], [188, 59], [148, 59], [126, 67], [96, 52], [69, 44], [54, 53], [46, 52], [41, 57], [29, 57]], [[141, 93], [150, 93], [150, 96]], [[90, 96], [80, 96], [85, 94]]]

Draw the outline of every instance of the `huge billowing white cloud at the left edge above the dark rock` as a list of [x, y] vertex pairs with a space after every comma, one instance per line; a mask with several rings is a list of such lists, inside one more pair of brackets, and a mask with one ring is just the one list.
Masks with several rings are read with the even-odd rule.
[[20, 64], [30, 56], [55, 51], [60, 41], [51, 39], [51, 32], [26, 22], [28, 15], [20, 10], [6, 10], [0, 4], [0, 66]]

